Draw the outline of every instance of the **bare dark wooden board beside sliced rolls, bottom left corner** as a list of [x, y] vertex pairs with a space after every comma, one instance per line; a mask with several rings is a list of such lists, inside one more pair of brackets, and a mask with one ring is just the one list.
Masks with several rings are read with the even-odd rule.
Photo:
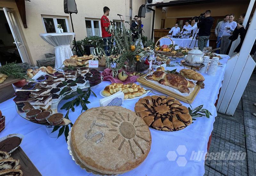
[[20, 160], [20, 170], [23, 172], [23, 176], [26, 175], [42, 175], [36, 168], [36, 166], [31, 162], [26, 153], [18, 147], [14, 152], [12, 152], [11, 157], [13, 159]]

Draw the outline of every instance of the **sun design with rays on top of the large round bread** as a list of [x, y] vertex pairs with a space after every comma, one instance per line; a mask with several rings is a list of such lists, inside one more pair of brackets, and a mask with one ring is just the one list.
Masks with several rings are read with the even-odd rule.
[[115, 143], [118, 139], [123, 138], [118, 150], [122, 150], [124, 143], [128, 142], [134, 158], [136, 158], [135, 151], [133, 150], [134, 147], [140, 148], [142, 154], [145, 153], [138, 141], [143, 140], [143, 142], [148, 143], [151, 143], [151, 141], [140, 135], [140, 133], [149, 132], [143, 130], [147, 125], [139, 122], [138, 119], [140, 117], [134, 118], [129, 113], [127, 116], [123, 116], [121, 113], [107, 109], [101, 109], [100, 112], [100, 117], [97, 117], [97, 119], [112, 121], [110, 123], [111, 126], [108, 126], [108, 131], [117, 133], [116, 137], [112, 139], [112, 142]]

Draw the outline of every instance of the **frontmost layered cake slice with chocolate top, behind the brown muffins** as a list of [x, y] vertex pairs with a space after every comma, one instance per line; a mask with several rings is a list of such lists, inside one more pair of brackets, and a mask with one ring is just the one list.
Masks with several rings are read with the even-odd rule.
[[49, 109], [51, 109], [52, 95], [42, 95], [37, 97], [37, 99], [40, 99], [40, 98], [43, 98], [43, 99], [30, 101], [30, 104], [35, 109], [42, 109], [42, 111], [48, 111]]

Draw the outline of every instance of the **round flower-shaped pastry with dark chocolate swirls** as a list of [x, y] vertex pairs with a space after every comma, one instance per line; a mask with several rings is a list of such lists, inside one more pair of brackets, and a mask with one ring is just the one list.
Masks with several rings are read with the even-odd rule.
[[135, 112], [156, 130], [178, 131], [192, 123], [188, 108], [172, 97], [146, 96], [135, 104]]

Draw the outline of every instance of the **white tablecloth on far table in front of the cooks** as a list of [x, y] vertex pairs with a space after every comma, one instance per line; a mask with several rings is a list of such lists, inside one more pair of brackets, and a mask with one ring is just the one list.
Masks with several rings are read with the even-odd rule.
[[[172, 41], [181, 47], [189, 47], [189, 45], [192, 41], [192, 38], [172, 38]], [[162, 38], [160, 40], [160, 46], [162, 46], [163, 44], [166, 44], [166, 45], [172, 44], [172, 41], [168, 38]], [[196, 40], [196, 38], [194, 38], [190, 48], [194, 48], [195, 42], [196, 42], [196, 47], [198, 47], [197, 40]], [[209, 40], [208, 40], [206, 46], [209, 46]]]

